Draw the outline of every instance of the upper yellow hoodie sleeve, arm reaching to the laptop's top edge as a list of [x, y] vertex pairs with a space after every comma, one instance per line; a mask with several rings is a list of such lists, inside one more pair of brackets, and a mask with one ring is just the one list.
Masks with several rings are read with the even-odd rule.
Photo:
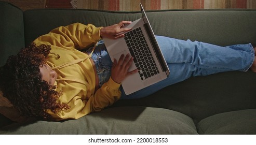
[[80, 50], [101, 39], [101, 28], [92, 24], [74, 23], [68, 26], [57, 27], [50, 31], [50, 33], [38, 37], [35, 42], [37, 45], [40, 45], [40, 42], [44, 42], [44, 44], [47, 42], [48, 45]]

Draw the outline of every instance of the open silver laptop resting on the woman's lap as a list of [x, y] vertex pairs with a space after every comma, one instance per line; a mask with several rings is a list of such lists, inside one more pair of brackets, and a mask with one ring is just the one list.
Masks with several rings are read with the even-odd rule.
[[128, 76], [122, 86], [125, 94], [129, 95], [146, 86], [166, 79], [169, 68], [157, 44], [154, 32], [141, 6], [142, 18], [133, 21], [125, 27], [132, 28], [125, 33], [124, 38], [103, 38], [111, 60], [119, 60], [122, 54], [130, 53], [134, 57], [129, 71], [138, 69], [138, 73]]

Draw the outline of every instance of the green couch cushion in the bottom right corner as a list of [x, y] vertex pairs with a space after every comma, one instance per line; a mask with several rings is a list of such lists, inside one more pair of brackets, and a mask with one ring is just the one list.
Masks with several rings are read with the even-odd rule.
[[197, 124], [199, 134], [256, 134], [256, 109], [212, 115]]

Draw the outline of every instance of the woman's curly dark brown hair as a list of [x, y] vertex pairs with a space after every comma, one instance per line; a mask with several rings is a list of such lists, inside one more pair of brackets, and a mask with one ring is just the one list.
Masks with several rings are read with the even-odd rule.
[[0, 88], [4, 96], [26, 117], [51, 120], [47, 109], [56, 113], [70, 108], [57, 103], [62, 92], [55, 91], [55, 85], [42, 80], [39, 67], [46, 63], [50, 50], [50, 45], [32, 43], [17, 55], [9, 56], [0, 68]]

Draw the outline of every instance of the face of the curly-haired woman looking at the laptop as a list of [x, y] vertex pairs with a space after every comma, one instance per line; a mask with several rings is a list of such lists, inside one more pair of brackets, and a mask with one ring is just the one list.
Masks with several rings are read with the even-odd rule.
[[49, 85], [53, 85], [58, 77], [57, 72], [52, 70], [47, 64], [40, 66], [40, 72], [42, 74], [42, 80], [48, 82]]

